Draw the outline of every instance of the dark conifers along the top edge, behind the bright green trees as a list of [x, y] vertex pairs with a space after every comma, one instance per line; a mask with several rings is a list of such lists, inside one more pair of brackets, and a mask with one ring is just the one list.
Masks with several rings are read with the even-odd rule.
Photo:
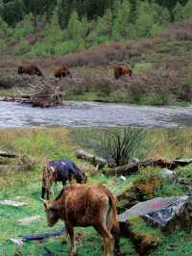
[[[129, 0], [132, 10], [143, 0]], [[190, 0], [149, 0], [172, 12], [178, 3], [185, 5]], [[45, 14], [49, 18], [53, 10], [58, 7], [60, 26], [67, 27], [70, 14], [76, 10], [79, 17], [86, 17], [88, 20], [103, 16], [108, 9], [114, 9], [116, 5], [122, 4], [124, 0], [0, 0], [0, 14], [9, 25], [15, 25], [22, 20], [26, 14]]]

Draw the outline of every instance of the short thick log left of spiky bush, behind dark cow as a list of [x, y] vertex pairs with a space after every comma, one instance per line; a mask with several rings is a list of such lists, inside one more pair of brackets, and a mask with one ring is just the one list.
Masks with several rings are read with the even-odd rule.
[[88, 154], [84, 152], [84, 150], [78, 150], [76, 152], [76, 156], [78, 159], [83, 159], [84, 161], [91, 163], [93, 166], [96, 166], [97, 169], [103, 168], [108, 164], [107, 160]]

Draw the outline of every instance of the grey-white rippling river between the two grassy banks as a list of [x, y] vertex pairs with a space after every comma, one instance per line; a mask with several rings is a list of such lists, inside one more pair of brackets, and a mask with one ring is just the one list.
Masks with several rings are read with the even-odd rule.
[[192, 127], [192, 106], [148, 107], [95, 102], [65, 102], [50, 109], [0, 102], [0, 127], [135, 126]]

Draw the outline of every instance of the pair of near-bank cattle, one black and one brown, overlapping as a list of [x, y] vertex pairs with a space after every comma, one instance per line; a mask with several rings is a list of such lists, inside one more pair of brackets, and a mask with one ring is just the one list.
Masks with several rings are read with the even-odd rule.
[[[66, 182], [76, 180], [76, 185]], [[46, 162], [42, 171], [42, 192], [47, 224], [54, 226], [59, 219], [64, 221], [67, 235], [71, 240], [69, 255], [77, 254], [73, 228], [75, 226], [93, 226], [104, 241], [104, 255], [114, 255], [114, 242], [118, 234], [116, 197], [106, 185], [86, 185], [87, 177], [78, 166], [70, 160]], [[63, 185], [60, 194], [54, 200], [49, 193], [54, 183]], [[44, 195], [47, 195], [47, 200]]]

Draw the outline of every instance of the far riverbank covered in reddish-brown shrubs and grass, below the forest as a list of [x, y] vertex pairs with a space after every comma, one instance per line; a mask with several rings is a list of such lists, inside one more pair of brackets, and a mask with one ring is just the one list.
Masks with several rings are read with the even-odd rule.
[[[17, 77], [21, 63], [37, 64], [46, 80], [60, 86], [62, 99], [122, 102], [145, 105], [188, 106], [192, 99], [191, 22], [173, 25], [167, 32], [150, 39], [108, 42], [87, 50], [55, 57], [32, 58], [12, 53], [0, 61], [0, 95], [32, 93], [37, 78]], [[56, 65], [65, 63], [73, 75], [62, 81], [53, 79]], [[132, 66], [132, 77], [114, 79], [117, 64]], [[6, 90], [6, 91], [5, 91]], [[37, 90], [37, 88], [36, 88]]]

